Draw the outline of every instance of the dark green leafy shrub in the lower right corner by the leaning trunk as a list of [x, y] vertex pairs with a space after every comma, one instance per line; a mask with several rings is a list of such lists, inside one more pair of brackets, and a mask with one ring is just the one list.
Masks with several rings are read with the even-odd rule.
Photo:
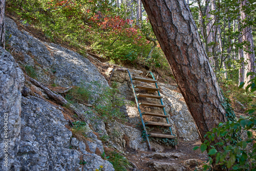
[[[256, 78], [251, 79], [246, 90], [256, 91], [255, 82]], [[242, 86], [243, 83], [240, 87]], [[205, 135], [207, 140], [200, 147], [194, 148], [200, 148], [202, 152], [207, 149], [210, 157], [209, 164], [203, 166], [204, 170], [209, 170], [211, 164], [229, 170], [256, 170], [256, 138], [253, 135], [256, 131], [255, 111], [254, 104], [246, 111], [249, 116], [220, 123], [217, 128]], [[216, 140], [218, 142], [214, 143]]]

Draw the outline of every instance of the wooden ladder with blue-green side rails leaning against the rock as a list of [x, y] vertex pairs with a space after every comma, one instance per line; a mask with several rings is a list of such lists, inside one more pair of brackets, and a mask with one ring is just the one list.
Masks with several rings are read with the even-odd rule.
[[[152, 151], [152, 148], [151, 148], [151, 144], [150, 144], [150, 140], [148, 137], [160, 137], [160, 138], [170, 138], [170, 139], [174, 139], [175, 136], [173, 135], [173, 132], [172, 132], [172, 129], [170, 128], [170, 124], [169, 124], [169, 121], [168, 121], [168, 116], [166, 115], [166, 112], [165, 112], [165, 105], [163, 105], [163, 101], [162, 101], [162, 98], [160, 96], [160, 93], [159, 93], [159, 88], [157, 86], [157, 80], [155, 79], [154, 75], [152, 72], [149, 72], [148, 74], [151, 74], [152, 78], [153, 79], [150, 79], [150, 78], [141, 78], [141, 77], [134, 77], [132, 78], [131, 77], [131, 74], [130, 74], [130, 71], [126, 69], [126, 71], [128, 72], [129, 74], [129, 77], [130, 77], [130, 80], [131, 80], [131, 84], [132, 84], [132, 89], [133, 89], [133, 93], [134, 93], [134, 97], [135, 97], [135, 100], [136, 100], [136, 104], [137, 104], [137, 107], [138, 107], [138, 110], [139, 110], [139, 114], [140, 114], [140, 118], [141, 118], [141, 122], [142, 122], [142, 125], [143, 125], [143, 130], [146, 134], [146, 140], [147, 140], [147, 144], [148, 144], [148, 148], [150, 149], [150, 151]], [[148, 75], [147, 74], [147, 75]], [[150, 82], [150, 83], [155, 83], [155, 87], [150, 87], [150, 86], [134, 86], [133, 84], [133, 81], [142, 81], [142, 82]], [[150, 90], [150, 91], [157, 91], [158, 95], [151, 95], [151, 94], [141, 94], [141, 93], [136, 93], [135, 89], [144, 89], [144, 90]], [[147, 97], [147, 98], [155, 98], [155, 99], [159, 99], [160, 100], [160, 103], [161, 104], [155, 104], [155, 103], [144, 103], [144, 102], [139, 102], [138, 101], [138, 98], [137, 97]], [[162, 108], [163, 110], [163, 114], [157, 114], [157, 113], [148, 113], [148, 112], [141, 112], [140, 110], [140, 106], [153, 106], [153, 107], [156, 107], [156, 108]], [[147, 121], [147, 122], [144, 122], [144, 119], [143, 119], [143, 116], [154, 116], [154, 117], [162, 117], [162, 118], [165, 118], [166, 119], [166, 123], [162, 123], [162, 122], [150, 122], [150, 121]], [[146, 131], [146, 127], [145, 125], [150, 125], [150, 126], [166, 126], [169, 128], [169, 131], [170, 131], [170, 135], [166, 135], [166, 134], [155, 134], [155, 133], [147, 133]]]

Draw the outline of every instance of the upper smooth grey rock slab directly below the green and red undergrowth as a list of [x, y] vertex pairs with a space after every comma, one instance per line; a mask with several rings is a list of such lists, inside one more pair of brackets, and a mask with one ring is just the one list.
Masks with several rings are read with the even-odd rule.
[[83, 82], [97, 81], [108, 85], [97, 68], [87, 59], [56, 44], [41, 42], [26, 31], [17, 29], [15, 22], [6, 18], [9, 45], [24, 56], [22, 65], [34, 68], [42, 83], [61, 87], [77, 86]]

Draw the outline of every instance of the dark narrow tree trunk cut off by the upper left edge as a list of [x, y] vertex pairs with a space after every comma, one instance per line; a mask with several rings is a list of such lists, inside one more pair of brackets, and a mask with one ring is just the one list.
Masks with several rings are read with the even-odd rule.
[[5, 49], [5, 0], [0, 0], [0, 46]]

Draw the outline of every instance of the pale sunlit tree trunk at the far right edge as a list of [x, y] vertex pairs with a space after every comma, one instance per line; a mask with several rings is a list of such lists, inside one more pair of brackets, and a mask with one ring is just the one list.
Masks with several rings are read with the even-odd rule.
[[[240, 4], [240, 8], [241, 8], [241, 19], [242, 21], [244, 19], [248, 19], [247, 17], [247, 14], [243, 11], [243, 6], [246, 6], [247, 5], [247, 0], [244, 0], [241, 2]], [[244, 24], [244, 22], [243, 22]], [[254, 72], [255, 69], [255, 64], [254, 64], [254, 61], [255, 61], [255, 56], [254, 56], [254, 45], [253, 45], [253, 37], [252, 37], [252, 30], [251, 30], [251, 27], [245, 27], [243, 29], [243, 36], [242, 36], [242, 40], [243, 42], [247, 42], [247, 45], [245, 45], [245, 50], [244, 50], [244, 61], [247, 63], [247, 65], [245, 65], [245, 77], [244, 77], [244, 87], [246, 88], [249, 84], [249, 80], [252, 79], [252, 76], [248, 76], [246, 77], [246, 75], [249, 73], [249, 72]]]

